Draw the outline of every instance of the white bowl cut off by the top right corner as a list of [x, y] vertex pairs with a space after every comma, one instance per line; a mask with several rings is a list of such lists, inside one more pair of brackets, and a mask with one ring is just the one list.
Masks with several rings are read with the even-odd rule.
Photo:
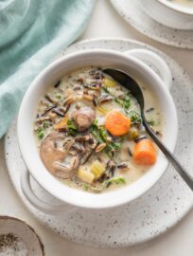
[[178, 29], [193, 29], [193, 8], [185, 8], [167, 0], [146, 0], [140, 3], [144, 11], [160, 24]]

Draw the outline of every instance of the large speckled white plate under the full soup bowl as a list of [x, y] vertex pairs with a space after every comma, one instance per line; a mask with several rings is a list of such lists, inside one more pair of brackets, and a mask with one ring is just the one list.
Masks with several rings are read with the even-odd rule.
[[[167, 61], [174, 77], [171, 93], [181, 120], [176, 155], [187, 170], [192, 172], [193, 161], [189, 153], [193, 152], [193, 91], [184, 69], [163, 52], [130, 40], [83, 41], [70, 46], [63, 55], [89, 48], [111, 48], [118, 51], [149, 48]], [[193, 206], [192, 192], [181, 177], [169, 167], [167, 173], [148, 193], [118, 209], [76, 209], [62, 216], [44, 214], [35, 210], [21, 191], [20, 174], [26, 167], [18, 148], [15, 123], [9, 129], [5, 145], [10, 179], [27, 209], [48, 228], [80, 244], [95, 247], [126, 247], [145, 242], [174, 226]], [[57, 203], [57, 200], [44, 192], [34, 180], [31, 181], [34, 192], [42, 200]]]

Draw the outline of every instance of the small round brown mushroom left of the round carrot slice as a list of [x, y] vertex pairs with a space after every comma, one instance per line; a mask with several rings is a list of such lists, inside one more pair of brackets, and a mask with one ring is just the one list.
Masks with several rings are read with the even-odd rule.
[[85, 106], [75, 110], [72, 114], [72, 118], [79, 132], [83, 132], [91, 127], [96, 118], [96, 113], [92, 108]]

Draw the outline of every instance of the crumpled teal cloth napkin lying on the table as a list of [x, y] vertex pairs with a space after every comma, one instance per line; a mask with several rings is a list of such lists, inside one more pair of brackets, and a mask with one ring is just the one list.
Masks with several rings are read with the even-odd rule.
[[0, 0], [0, 137], [30, 82], [75, 41], [95, 0]]

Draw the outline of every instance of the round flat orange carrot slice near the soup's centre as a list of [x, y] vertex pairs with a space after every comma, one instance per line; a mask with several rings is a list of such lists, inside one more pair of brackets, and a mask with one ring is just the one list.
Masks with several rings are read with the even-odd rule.
[[124, 136], [129, 132], [131, 119], [120, 111], [111, 111], [106, 116], [105, 127], [113, 136]]

